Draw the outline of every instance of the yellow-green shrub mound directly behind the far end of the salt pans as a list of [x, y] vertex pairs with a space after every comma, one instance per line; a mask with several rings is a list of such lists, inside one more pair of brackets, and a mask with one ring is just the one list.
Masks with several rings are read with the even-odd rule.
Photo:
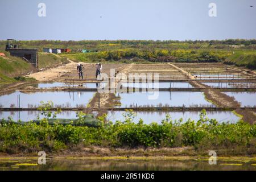
[[72, 60], [93, 62], [93, 61], [122, 61], [124, 63], [150, 62], [218, 62], [223, 61], [231, 53], [229, 51], [214, 51], [207, 49], [115, 49], [93, 53], [68, 53], [62, 55]]

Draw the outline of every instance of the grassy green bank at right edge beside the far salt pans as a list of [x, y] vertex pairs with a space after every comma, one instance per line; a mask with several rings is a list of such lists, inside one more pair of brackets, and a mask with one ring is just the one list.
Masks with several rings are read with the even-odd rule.
[[245, 66], [246, 68], [256, 69], [256, 51], [239, 51], [226, 58], [226, 64]]

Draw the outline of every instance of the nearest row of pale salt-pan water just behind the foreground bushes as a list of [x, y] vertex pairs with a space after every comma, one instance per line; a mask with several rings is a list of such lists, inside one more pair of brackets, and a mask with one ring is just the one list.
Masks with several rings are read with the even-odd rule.
[[[98, 113], [94, 111], [93, 114], [97, 115]], [[108, 111], [106, 119], [112, 122], [124, 121], [124, 114], [126, 114], [125, 111]], [[171, 116], [173, 121], [180, 118], [182, 118], [183, 121], [187, 121], [189, 118], [195, 121], [200, 119], [200, 111], [134, 111], [133, 114], [134, 122], [137, 123], [139, 119], [143, 119], [144, 123], [147, 124], [151, 122], [161, 123], [161, 121], [166, 118], [167, 114]], [[40, 111], [0, 111], [0, 119], [8, 119], [8, 117], [11, 117], [14, 121], [18, 121], [18, 119], [21, 121], [31, 121], [35, 120], [38, 116], [39, 118], [43, 118]], [[218, 122], [237, 122], [240, 119], [236, 114], [232, 113], [232, 111], [208, 111], [207, 116], [209, 119], [217, 119]], [[77, 114], [76, 111], [62, 111], [56, 115], [56, 118], [76, 119]]]

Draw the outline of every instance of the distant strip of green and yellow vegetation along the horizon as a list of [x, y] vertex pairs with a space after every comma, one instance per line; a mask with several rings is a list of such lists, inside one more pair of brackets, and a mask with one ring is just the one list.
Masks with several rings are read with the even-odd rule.
[[[0, 50], [5, 49], [6, 40], [0, 41]], [[20, 48], [38, 48], [43, 51], [44, 47], [88, 49], [93, 51], [106, 51], [120, 48], [170, 48], [170, 49], [199, 49], [203, 47], [214, 49], [244, 48], [255, 49], [256, 40], [227, 39], [227, 40], [30, 40], [18, 41]]]

